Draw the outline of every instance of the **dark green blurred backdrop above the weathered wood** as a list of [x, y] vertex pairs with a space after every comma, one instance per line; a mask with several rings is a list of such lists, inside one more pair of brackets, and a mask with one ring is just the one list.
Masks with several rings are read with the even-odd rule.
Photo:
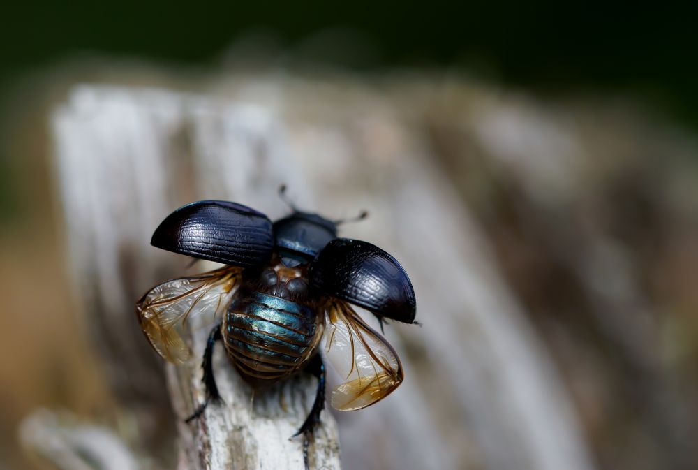
[[[215, 61], [235, 38], [265, 27], [293, 48], [318, 31], [355, 31], [358, 68], [447, 66], [537, 91], [630, 91], [698, 122], [697, 6], [569, 2], [119, 1], [3, 6], [3, 82], [76, 52]], [[21, 75], [20, 75], [21, 76]]]

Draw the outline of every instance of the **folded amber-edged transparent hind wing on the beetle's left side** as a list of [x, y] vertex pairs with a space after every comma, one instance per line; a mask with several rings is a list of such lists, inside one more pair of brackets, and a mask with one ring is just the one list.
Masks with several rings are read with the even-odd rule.
[[226, 266], [194, 277], [165, 281], [136, 303], [140, 328], [163, 358], [185, 362], [191, 351], [183, 334], [188, 321], [213, 323], [228, 307], [242, 267]]

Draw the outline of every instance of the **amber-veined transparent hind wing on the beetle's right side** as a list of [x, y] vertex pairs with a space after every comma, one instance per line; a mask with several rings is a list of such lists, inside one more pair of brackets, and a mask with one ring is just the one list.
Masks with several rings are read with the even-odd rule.
[[387, 397], [403, 379], [395, 350], [346, 302], [332, 298], [326, 308], [325, 355], [345, 380], [332, 390], [332, 406], [352, 411]]

